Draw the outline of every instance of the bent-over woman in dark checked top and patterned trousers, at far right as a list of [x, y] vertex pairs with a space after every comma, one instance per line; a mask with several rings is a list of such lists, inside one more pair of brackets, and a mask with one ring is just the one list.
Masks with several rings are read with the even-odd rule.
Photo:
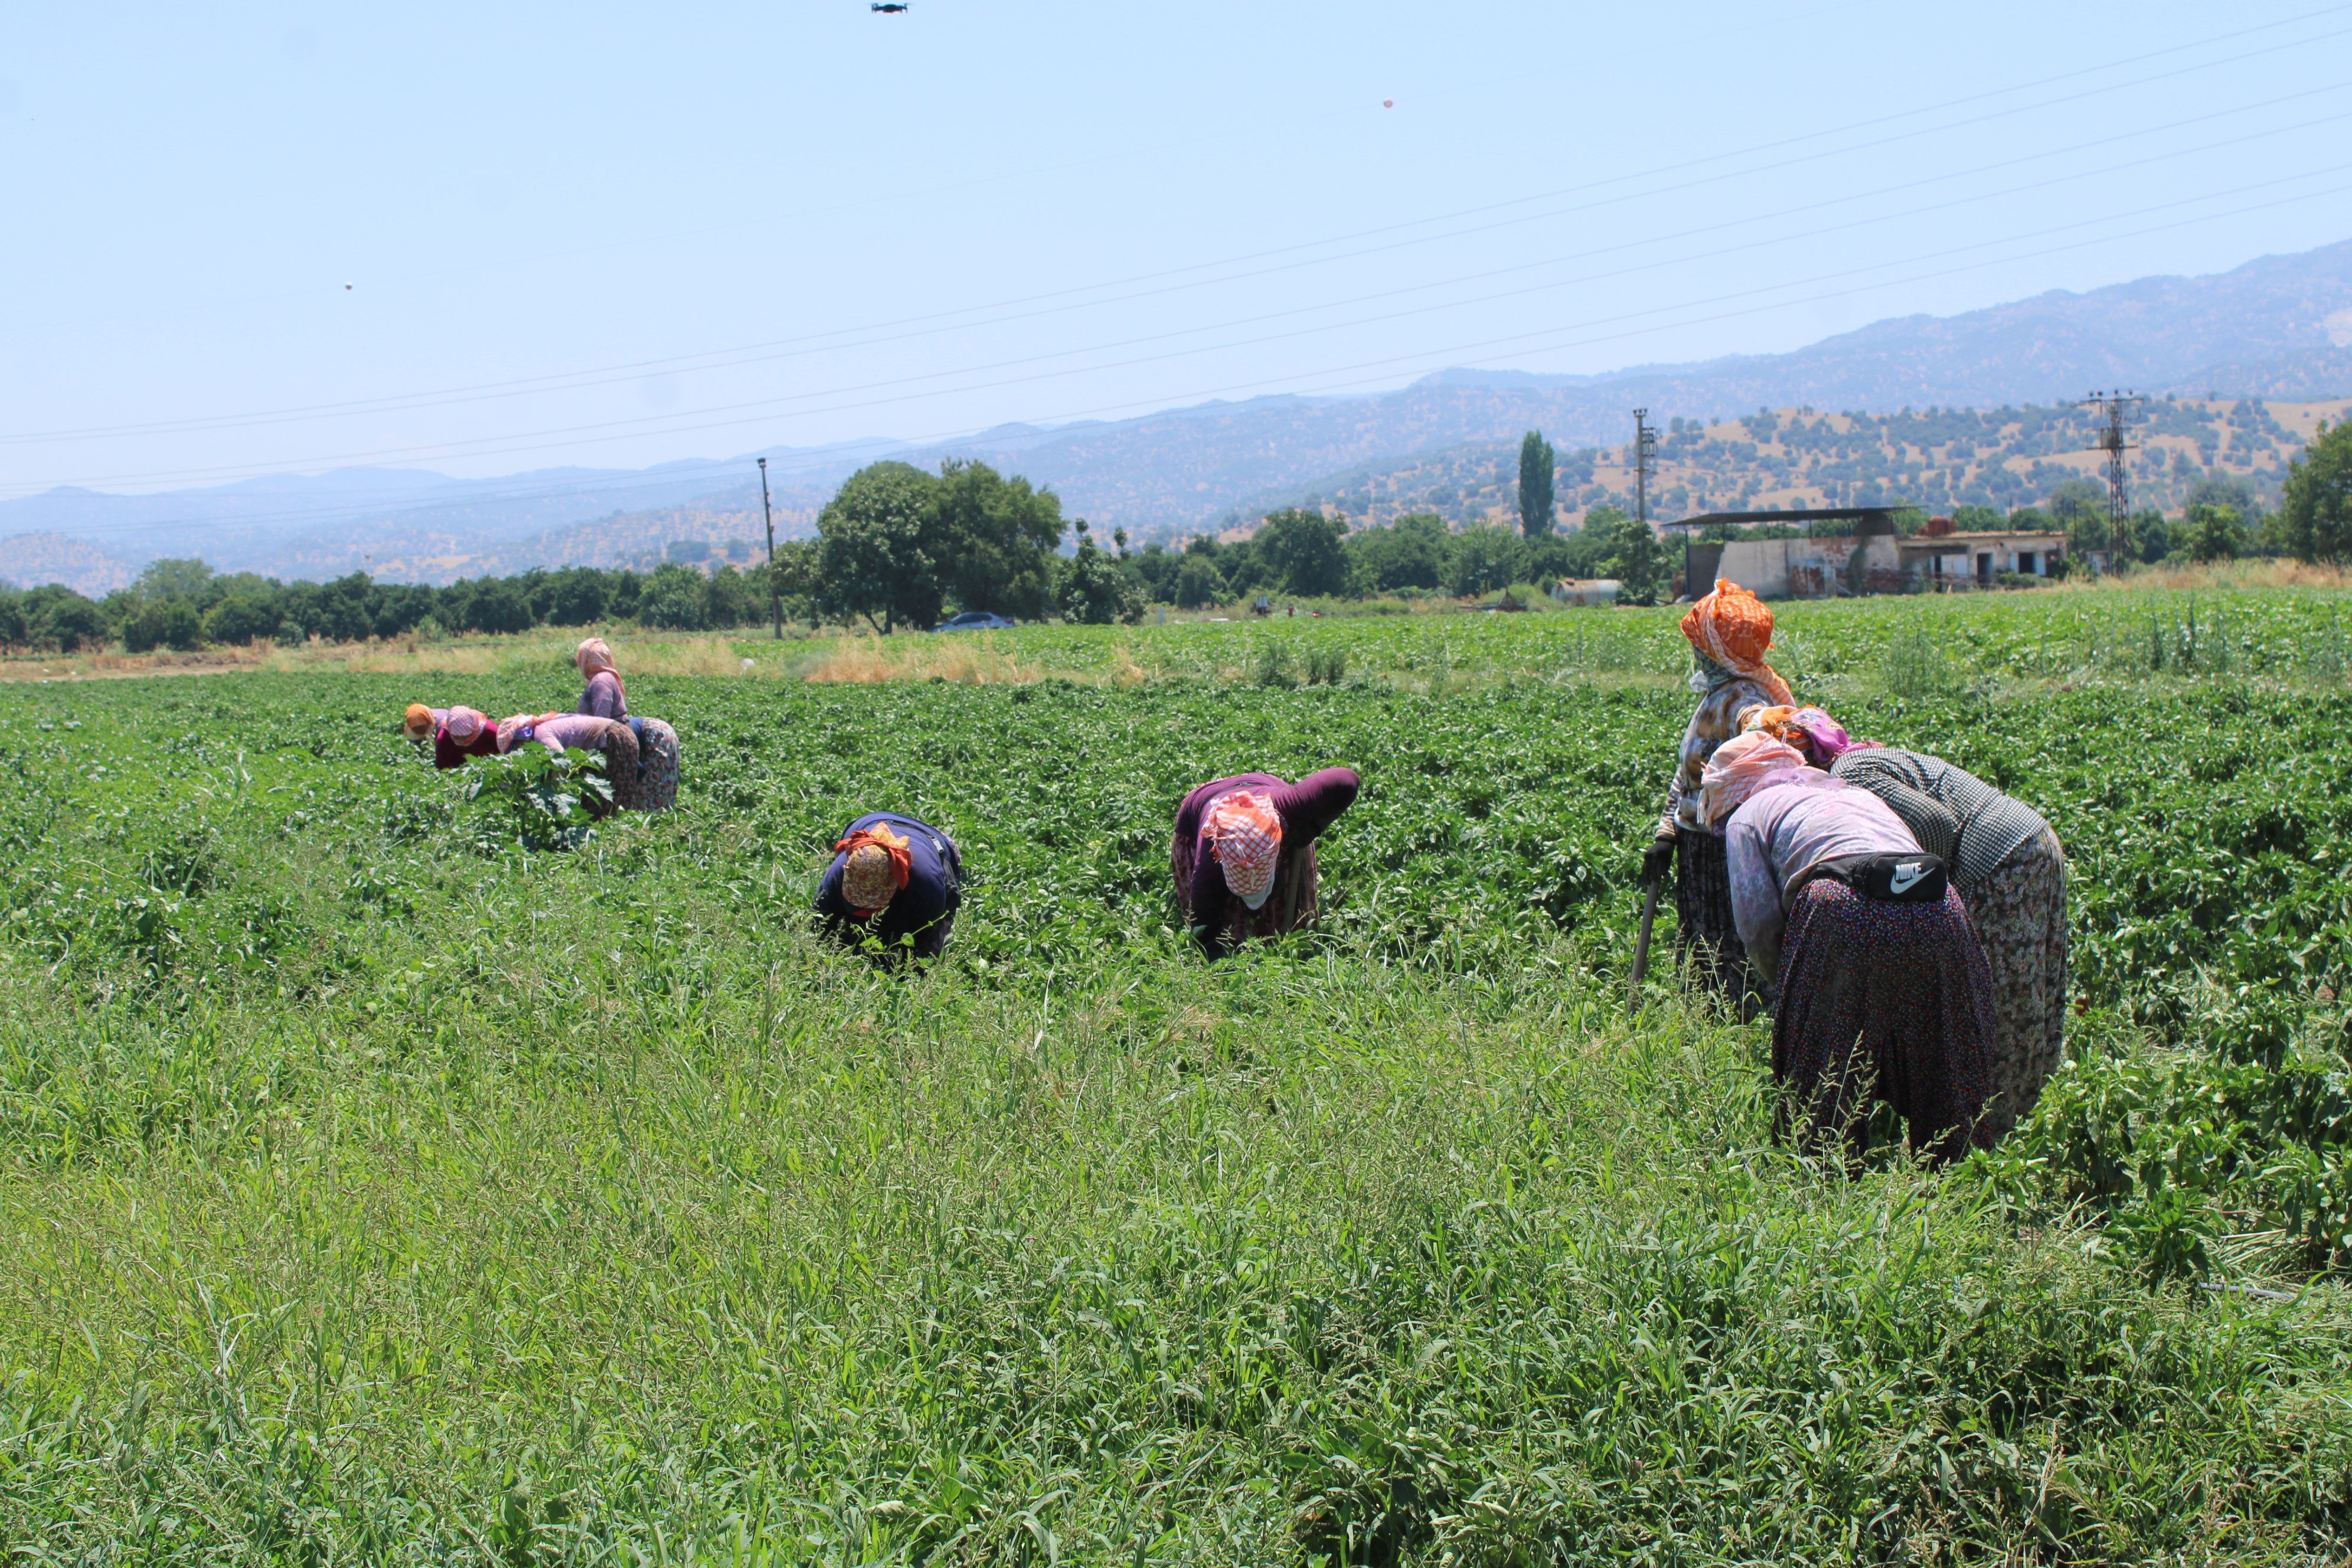
[[1882, 799], [1938, 856], [1992, 969], [1992, 1143], [2042, 1098], [2065, 1044], [2065, 846], [2042, 813], [1943, 757], [1856, 743], [1818, 708], [1762, 708], [1743, 729], [1776, 733], [1835, 778]]

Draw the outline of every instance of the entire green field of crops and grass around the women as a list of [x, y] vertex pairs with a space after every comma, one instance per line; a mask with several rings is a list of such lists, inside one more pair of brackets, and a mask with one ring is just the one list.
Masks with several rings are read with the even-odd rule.
[[[640, 675], [680, 809], [574, 849], [397, 738], [567, 705], [553, 642], [5, 684], [0, 1544], [2340, 1561], [2347, 611], [1788, 611], [2074, 860], [2067, 1063], [1947, 1171], [1776, 1147], [1769, 1025], [1670, 964], [1625, 1013], [1672, 611]], [[1204, 966], [1178, 795], [1329, 762], [1319, 929]], [[924, 973], [807, 924], [873, 806], [964, 846]]]

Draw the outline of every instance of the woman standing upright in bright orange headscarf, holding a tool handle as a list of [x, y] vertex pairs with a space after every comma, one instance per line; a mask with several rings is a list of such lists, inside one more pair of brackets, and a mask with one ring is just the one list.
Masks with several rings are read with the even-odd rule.
[[1740, 980], [1740, 938], [1731, 919], [1731, 889], [1724, 870], [1724, 842], [1698, 813], [1698, 783], [1715, 748], [1738, 733], [1743, 708], [1788, 705], [1795, 698], [1778, 670], [1764, 663], [1771, 651], [1771, 609], [1738, 583], [1717, 578], [1682, 618], [1691, 642], [1691, 691], [1698, 708], [1682, 731], [1675, 778], [1665, 788], [1665, 816], [1642, 856], [1644, 882], [1665, 875], [1675, 863], [1675, 914], [1682, 945], [1696, 947], [1719, 985]]

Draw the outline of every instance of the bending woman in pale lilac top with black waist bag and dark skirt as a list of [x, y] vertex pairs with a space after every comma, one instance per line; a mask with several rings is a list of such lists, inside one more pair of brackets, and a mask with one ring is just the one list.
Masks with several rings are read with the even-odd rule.
[[1748, 959], [1778, 978], [1783, 1131], [1860, 1154], [1870, 1103], [1886, 1100], [1924, 1154], [1976, 1143], [1992, 971], [1940, 863], [1886, 802], [1769, 733], [1717, 748], [1698, 809], [1724, 830]]

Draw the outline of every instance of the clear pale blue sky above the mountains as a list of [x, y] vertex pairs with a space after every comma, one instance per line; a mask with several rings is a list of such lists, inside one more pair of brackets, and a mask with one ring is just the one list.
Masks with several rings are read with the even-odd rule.
[[2352, 233], [2347, 61], [2352, 5], [26, 7], [0, 496], [1599, 371], [2213, 273]]

